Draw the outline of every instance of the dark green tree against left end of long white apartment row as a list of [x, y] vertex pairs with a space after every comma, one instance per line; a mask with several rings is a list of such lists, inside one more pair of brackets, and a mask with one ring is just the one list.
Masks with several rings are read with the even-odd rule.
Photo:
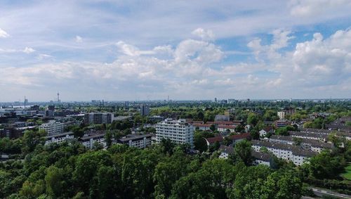
[[251, 142], [247, 141], [246, 139], [235, 143], [234, 147], [234, 155], [244, 162], [246, 166], [252, 164], [253, 158], [251, 156]]

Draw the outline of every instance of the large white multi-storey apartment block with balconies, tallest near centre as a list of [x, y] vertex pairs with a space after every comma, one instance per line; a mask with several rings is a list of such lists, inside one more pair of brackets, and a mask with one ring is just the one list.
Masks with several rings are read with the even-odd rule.
[[170, 139], [175, 143], [189, 143], [193, 146], [194, 126], [184, 119], [173, 120], [167, 118], [163, 122], [156, 124], [156, 141], [161, 139]]

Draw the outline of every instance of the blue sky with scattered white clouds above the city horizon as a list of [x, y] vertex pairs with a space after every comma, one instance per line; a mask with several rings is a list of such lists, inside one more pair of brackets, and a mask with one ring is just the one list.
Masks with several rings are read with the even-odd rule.
[[0, 101], [351, 98], [351, 1], [0, 1]]

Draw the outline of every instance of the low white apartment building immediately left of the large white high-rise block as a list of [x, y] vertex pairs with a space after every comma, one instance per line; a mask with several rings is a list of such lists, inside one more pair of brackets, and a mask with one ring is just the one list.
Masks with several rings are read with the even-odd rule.
[[128, 134], [124, 138], [118, 139], [117, 143], [126, 144], [136, 148], [146, 148], [151, 145], [152, 134], [135, 135]]

